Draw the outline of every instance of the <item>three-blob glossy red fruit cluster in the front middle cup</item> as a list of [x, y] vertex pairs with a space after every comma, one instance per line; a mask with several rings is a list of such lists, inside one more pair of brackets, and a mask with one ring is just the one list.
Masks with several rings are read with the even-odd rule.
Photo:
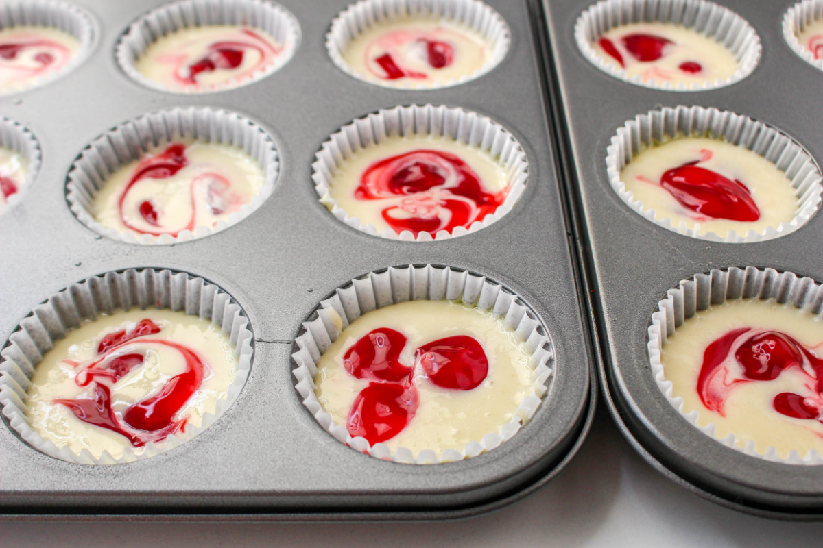
[[[349, 375], [370, 380], [351, 405], [346, 430], [370, 444], [391, 440], [414, 417], [419, 396], [413, 368], [399, 361], [407, 338], [394, 329], [374, 329], [346, 351]], [[441, 338], [414, 352], [426, 377], [445, 389], [471, 390], [486, 379], [489, 362], [481, 344], [466, 335]]]

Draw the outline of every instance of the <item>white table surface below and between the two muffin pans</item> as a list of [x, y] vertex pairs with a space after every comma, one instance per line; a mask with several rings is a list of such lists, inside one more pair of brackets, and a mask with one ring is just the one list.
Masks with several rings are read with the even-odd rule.
[[496, 513], [445, 523], [0, 523], [0, 546], [823, 546], [823, 523], [755, 518], [691, 495], [597, 413], [548, 486]]

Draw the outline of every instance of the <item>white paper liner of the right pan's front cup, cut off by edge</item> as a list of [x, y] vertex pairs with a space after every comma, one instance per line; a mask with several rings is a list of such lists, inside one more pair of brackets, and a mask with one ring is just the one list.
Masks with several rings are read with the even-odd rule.
[[797, 274], [791, 272], [761, 270], [753, 266], [746, 269], [713, 269], [709, 274], [696, 274], [692, 279], [682, 280], [676, 289], [669, 289], [667, 297], [658, 303], [658, 311], [652, 314], [652, 323], [649, 325], [649, 363], [658, 388], [668, 403], [671, 403], [686, 421], [713, 440], [732, 449], [779, 463], [823, 464], [823, 458], [814, 449], [804, 456], [797, 454], [797, 451], [791, 451], [787, 458], [780, 458], [774, 447], [769, 447], [764, 454], [757, 453], [755, 443], [751, 440], [742, 448], [738, 447], [737, 436], [733, 434], [719, 439], [714, 434], [717, 426], [711, 423], [699, 426], [699, 412], [695, 410], [686, 413], [683, 398], [672, 396], [672, 381], [666, 379], [660, 360], [661, 348], [667, 338], [697, 311], [709, 310], [713, 305], [737, 299], [774, 299], [780, 304], [791, 303], [799, 309], [820, 315], [823, 309], [823, 287], [811, 278], [798, 278]]

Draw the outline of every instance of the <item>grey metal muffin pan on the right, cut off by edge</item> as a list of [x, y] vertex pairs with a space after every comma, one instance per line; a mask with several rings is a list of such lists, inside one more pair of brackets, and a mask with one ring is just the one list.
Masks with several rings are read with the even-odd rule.
[[716, 243], [683, 236], [642, 218], [607, 176], [607, 146], [626, 120], [660, 107], [699, 105], [746, 114], [778, 127], [823, 160], [823, 131], [813, 114], [823, 76], [788, 47], [783, 14], [793, 2], [722, 0], [753, 25], [763, 44], [759, 65], [726, 88], [650, 90], [608, 76], [584, 58], [574, 23], [593, 2], [544, 0], [551, 87], [560, 149], [574, 201], [587, 292], [602, 349], [600, 378], [612, 416], [659, 472], [719, 504], [771, 517], [823, 518], [823, 467], [767, 462], [698, 431], [655, 385], [646, 349], [658, 301], [682, 279], [732, 266], [771, 267], [823, 280], [823, 215], [768, 242]]

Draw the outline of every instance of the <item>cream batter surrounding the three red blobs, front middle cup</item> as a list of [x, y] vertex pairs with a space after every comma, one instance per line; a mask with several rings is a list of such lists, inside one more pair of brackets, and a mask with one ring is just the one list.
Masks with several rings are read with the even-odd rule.
[[529, 354], [502, 320], [477, 308], [449, 301], [412, 301], [386, 306], [360, 316], [342, 331], [318, 362], [315, 394], [323, 409], [339, 425], [346, 425], [351, 404], [369, 381], [356, 379], [343, 367], [346, 351], [362, 336], [378, 328], [399, 331], [408, 338], [400, 354], [406, 366], [414, 365], [414, 351], [425, 343], [454, 335], [476, 338], [486, 352], [489, 372], [477, 388], [443, 389], [430, 383], [418, 364], [414, 384], [420, 405], [412, 421], [384, 442], [392, 450], [406, 447], [417, 454], [432, 449], [463, 450], [511, 421], [523, 398], [532, 393], [533, 367]]

